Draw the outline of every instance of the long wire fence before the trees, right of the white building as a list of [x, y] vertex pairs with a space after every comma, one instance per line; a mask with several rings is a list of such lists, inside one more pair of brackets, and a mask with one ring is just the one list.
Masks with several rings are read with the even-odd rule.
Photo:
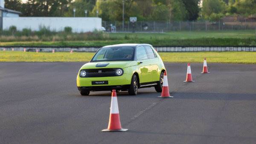
[[[111, 26], [116, 32], [171, 32], [171, 31], [225, 31], [225, 30], [256, 30], [256, 20], [245, 21], [102, 21], [102, 26], [111, 32]], [[113, 29], [112, 29], [113, 31]]]

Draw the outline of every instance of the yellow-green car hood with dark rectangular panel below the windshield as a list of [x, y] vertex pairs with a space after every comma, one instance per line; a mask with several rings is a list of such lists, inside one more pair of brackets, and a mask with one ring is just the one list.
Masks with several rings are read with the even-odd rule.
[[102, 61], [85, 63], [81, 69], [126, 68], [137, 65], [136, 61]]

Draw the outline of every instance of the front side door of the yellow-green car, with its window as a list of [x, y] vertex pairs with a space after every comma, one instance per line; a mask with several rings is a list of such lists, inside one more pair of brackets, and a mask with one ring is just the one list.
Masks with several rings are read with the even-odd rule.
[[146, 49], [144, 46], [138, 46], [136, 49], [136, 58], [137, 58], [137, 63], [139, 66], [139, 78], [140, 78], [140, 84], [141, 83], [147, 83], [151, 82], [151, 75], [149, 72], [149, 66], [150, 66], [150, 61], [148, 59], [148, 55], [146, 52]]

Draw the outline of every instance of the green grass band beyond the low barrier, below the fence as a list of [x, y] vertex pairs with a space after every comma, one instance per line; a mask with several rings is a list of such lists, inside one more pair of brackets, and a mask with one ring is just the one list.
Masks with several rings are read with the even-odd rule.
[[119, 43], [149, 43], [153, 46], [256, 46], [256, 33], [250, 31], [208, 31], [167, 33], [110, 33], [104, 40], [12, 41], [0, 46], [101, 47]]

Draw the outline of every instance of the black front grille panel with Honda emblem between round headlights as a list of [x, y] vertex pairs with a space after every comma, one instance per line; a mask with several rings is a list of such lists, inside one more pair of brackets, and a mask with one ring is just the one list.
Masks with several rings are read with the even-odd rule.
[[114, 77], [114, 76], [117, 76], [116, 69], [117, 68], [113, 68], [113, 69], [82, 69], [86, 72], [86, 75], [83, 78]]

